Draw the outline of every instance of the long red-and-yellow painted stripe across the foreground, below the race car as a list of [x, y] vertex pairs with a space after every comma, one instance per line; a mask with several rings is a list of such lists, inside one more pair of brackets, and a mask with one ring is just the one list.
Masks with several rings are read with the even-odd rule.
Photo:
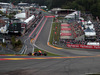
[[91, 57], [100, 57], [100, 55], [96, 56], [70, 56], [70, 57], [34, 57], [34, 58], [0, 58], [0, 61], [4, 60], [41, 60], [41, 59], [71, 59], [71, 58], [91, 58]]

